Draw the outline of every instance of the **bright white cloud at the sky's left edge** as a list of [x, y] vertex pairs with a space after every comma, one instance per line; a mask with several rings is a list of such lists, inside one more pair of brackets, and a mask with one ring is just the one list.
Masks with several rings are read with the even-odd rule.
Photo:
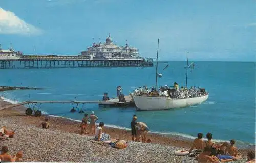
[[42, 31], [26, 23], [13, 12], [0, 8], [0, 34], [38, 35]]

